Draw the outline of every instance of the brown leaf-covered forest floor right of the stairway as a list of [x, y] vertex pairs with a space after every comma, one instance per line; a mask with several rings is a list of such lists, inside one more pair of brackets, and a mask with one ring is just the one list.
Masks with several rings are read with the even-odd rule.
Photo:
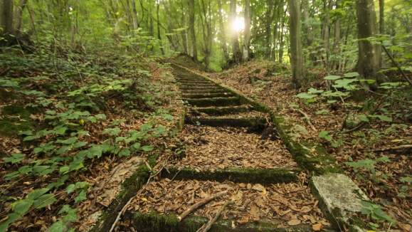
[[[184, 56], [178, 59], [180, 59], [179, 63], [187, 68], [195, 67], [191, 60]], [[398, 222], [397, 228], [411, 231], [412, 186], [411, 181], [401, 181], [405, 177], [412, 177], [411, 105], [394, 104], [392, 111], [397, 114], [393, 114], [393, 122], [376, 120], [367, 123], [359, 130], [344, 134], [342, 143], [334, 147], [331, 142], [320, 138], [319, 132], [328, 131], [333, 136], [344, 129], [344, 121], [349, 111], [367, 114], [373, 111], [373, 107], [362, 105], [350, 98], [339, 100], [330, 107], [322, 104], [320, 100], [308, 103], [305, 99], [295, 97], [299, 93], [307, 93], [310, 88], [327, 89], [327, 80], [323, 79], [327, 76], [325, 71], [311, 69], [309, 73], [310, 83], [305, 84], [300, 90], [290, 88], [290, 67], [268, 61], [251, 61], [220, 73], [204, 73], [204, 75], [252, 100], [268, 105], [278, 115], [304, 125], [310, 132], [305, 139], [322, 143], [359, 188]], [[343, 74], [334, 72], [330, 75], [343, 76]], [[386, 75], [399, 78], [400, 73], [391, 71]], [[411, 73], [408, 75], [411, 78]], [[366, 102], [372, 98], [376, 98], [376, 95], [364, 96]], [[352, 105], [344, 105], [342, 102], [352, 103]], [[381, 106], [375, 112], [379, 115], [383, 114], [384, 107], [389, 106]], [[295, 109], [305, 112], [314, 128], [310, 127], [304, 115]], [[330, 110], [330, 112], [319, 113], [320, 110]], [[332, 139], [332, 142], [336, 143], [337, 139]], [[362, 160], [366, 162], [362, 164]], [[348, 165], [354, 162], [358, 162], [359, 166]], [[366, 223], [369, 221], [376, 223], [376, 220], [370, 216], [362, 218]], [[393, 228], [393, 225], [391, 227]], [[389, 228], [389, 223], [386, 223], [386, 228]]]

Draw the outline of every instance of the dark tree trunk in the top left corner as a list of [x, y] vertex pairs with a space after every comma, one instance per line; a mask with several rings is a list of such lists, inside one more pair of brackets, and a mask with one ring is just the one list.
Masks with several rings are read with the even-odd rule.
[[0, 46], [11, 44], [13, 39], [10, 36], [13, 33], [13, 0], [0, 0], [0, 37], [6, 41], [0, 41]]

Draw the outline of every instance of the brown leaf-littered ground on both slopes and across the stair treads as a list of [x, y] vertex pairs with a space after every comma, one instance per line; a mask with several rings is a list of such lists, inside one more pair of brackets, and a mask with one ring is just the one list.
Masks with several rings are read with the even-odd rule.
[[[203, 72], [203, 66], [200, 63], [193, 63], [186, 56], [177, 56], [171, 63], [178, 63], [189, 69]], [[85, 62], [84, 67], [87, 65], [88, 62]], [[141, 213], [148, 213], [152, 210], [181, 213], [194, 202], [199, 202], [207, 196], [224, 190], [231, 192], [231, 194], [222, 197], [219, 201], [207, 204], [204, 209], [198, 209], [194, 214], [211, 218], [225, 201], [236, 199], [234, 206], [228, 206], [231, 211], [226, 210], [222, 215], [222, 218], [238, 218], [236, 222], [238, 224], [230, 225], [232, 228], [262, 218], [278, 224], [280, 229], [299, 226], [301, 223], [310, 225], [310, 228], [315, 231], [319, 231], [322, 227], [324, 229], [330, 228], [330, 223], [326, 221], [322, 211], [317, 206], [318, 202], [310, 193], [308, 187], [310, 173], [301, 172], [300, 167], [292, 159], [290, 152], [287, 151], [277, 133], [262, 139], [261, 133], [254, 133], [245, 128], [204, 125], [199, 127], [196, 126], [196, 120], [206, 116], [202, 112], [197, 112], [196, 107], [186, 105], [186, 116], [191, 117], [194, 125], [185, 125], [184, 129], [176, 135], [173, 131], [181, 112], [184, 110], [176, 79], [171, 75], [171, 68], [167, 68], [167, 66], [159, 68], [157, 65], [147, 64], [147, 70], [151, 73], [150, 77], [139, 79], [140, 85], [137, 85], [136, 89], [131, 90], [131, 92], [127, 89], [112, 90], [115, 86], [116, 88], [125, 88], [127, 83], [107, 82], [107, 88], [110, 90], [99, 93], [99, 96], [105, 97], [105, 101], [100, 102], [97, 97], [92, 96], [94, 102], [100, 102], [101, 109], [88, 108], [88, 106], [80, 107], [81, 110], [90, 110], [93, 115], [104, 113], [105, 120], [78, 122], [76, 117], [65, 121], [72, 123], [69, 125], [70, 132], [88, 132], [87, 135], [77, 137], [77, 141], [82, 142], [78, 145], [80, 147], [75, 147], [73, 144], [70, 145], [71, 147], [58, 144], [58, 141], [62, 142], [59, 135], [56, 137], [50, 135], [36, 137], [35, 142], [23, 141], [24, 138], [29, 137], [27, 135], [16, 136], [19, 131], [24, 130], [39, 131], [45, 128], [52, 130], [51, 128], [55, 125], [48, 123], [58, 122], [58, 120], [45, 119], [46, 115], [51, 116], [53, 110], [56, 111], [55, 114], [68, 112], [67, 110], [70, 109], [68, 105], [75, 102], [73, 98], [65, 97], [70, 94], [70, 89], [65, 88], [64, 85], [52, 90], [47, 88], [47, 83], [56, 84], [58, 80], [44, 78], [41, 76], [41, 72], [31, 73], [29, 78], [21, 82], [23, 92], [9, 89], [0, 93], [3, 96], [0, 98], [0, 122], [9, 122], [8, 129], [0, 132], [0, 156], [6, 158], [0, 159], [0, 176], [2, 178], [0, 183], [0, 224], [8, 220], [7, 213], [14, 208], [14, 201], [23, 201], [33, 189], [46, 188], [48, 184], [60, 182], [60, 179], [65, 178], [63, 184], [68, 185], [68, 187], [74, 186], [75, 183], [87, 182], [88, 184], [83, 186], [84, 193], [82, 188], [77, 191], [68, 191], [68, 189], [61, 189], [61, 187], [58, 189], [56, 186], [58, 190], [53, 189], [56, 203], [48, 204], [46, 208], [42, 209], [30, 208], [30, 211], [24, 212], [21, 218], [10, 224], [9, 230], [46, 231], [56, 221], [63, 220], [65, 213], [62, 214], [59, 211], [62, 207], [70, 205], [76, 209], [76, 218], [68, 226], [77, 231], [88, 231], [90, 225], [97, 221], [93, 218], [93, 213], [108, 207], [110, 209], [110, 204], [117, 201], [115, 196], [122, 191], [120, 184], [129, 179], [134, 172], [138, 172], [137, 164], [143, 164], [144, 172], [152, 174], [153, 178], [149, 178], [147, 184], [144, 185], [145, 191], [137, 193], [132, 204], [128, 206], [129, 210]], [[110, 72], [107, 70], [107, 73]], [[329, 109], [319, 101], [307, 103], [306, 100], [294, 97], [299, 93], [306, 93], [310, 88], [326, 89], [327, 84], [323, 78], [327, 74], [321, 70], [310, 70], [310, 73], [311, 82], [300, 90], [289, 88], [290, 69], [287, 65], [268, 61], [251, 61], [220, 73], [204, 73], [204, 75], [216, 83], [238, 91], [251, 100], [268, 105], [278, 115], [305, 126], [310, 133], [302, 135], [302, 138], [322, 143], [359, 188], [375, 204], [382, 206], [391, 218], [396, 220], [396, 226], [386, 223], [385, 228], [411, 231], [412, 186], [411, 182], [401, 181], [402, 178], [412, 177], [412, 149], [401, 147], [412, 143], [411, 117], [404, 117], [411, 111], [410, 108], [395, 105], [393, 111], [398, 110], [398, 115], [393, 115], [393, 122], [372, 121], [356, 132], [344, 135], [346, 139], [343, 139], [339, 146], [334, 147], [331, 142], [320, 138], [319, 132], [328, 131], [330, 135], [336, 135], [342, 130], [348, 111], [356, 110], [356, 107], [343, 105], [342, 102], [338, 101], [332, 109]], [[333, 74], [342, 75], [342, 73]], [[394, 72], [390, 75], [398, 77], [398, 74]], [[120, 80], [122, 79], [123, 77], [120, 76]], [[75, 86], [75, 89], [94, 86], [92, 84], [96, 83], [95, 81], [90, 75], [90, 79], [85, 78], [85, 80], [76, 82], [78, 86]], [[139, 98], [139, 100], [133, 99], [130, 97], [132, 92], [145, 97]], [[51, 105], [41, 107], [41, 111], [30, 111], [27, 110], [30, 107], [23, 107], [30, 103], [38, 104], [39, 98], [36, 94], [39, 93], [43, 97], [41, 100], [48, 100]], [[125, 93], [129, 95], [125, 95]], [[64, 103], [64, 107], [60, 107], [61, 102]], [[352, 101], [344, 99], [344, 102]], [[352, 103], [358, 105], [356, 102]], [[364, 108], [364, 110], [371, 111], [371, 107]], [[309, 115], [310, 122], [315, 128], [310, 127], [307, 120], [302, 119], [302, 114], [296, 109]], [[319, 114], [317, 113], [319, 110], [330, 110], [330, 112]], [[358, 111], [361, 112], [361, 110]], [[378, 111], [383, 112], [381, 108]], [[269, 121], [267, 115], [255, 111], [238, 112], [230, 117], [239, 119], [255, 117], [266, 122]], [[215, 119], [220, 118], [219, 116], [215, 117]], [[140, 141], [141, 144], [137, 142], [137, 148], [132, 149], [132, 145], [127, 144], [127, 142], [122, 143], [122, 139], [130, 138], [130, 134], [128, 134], [130, 131], [146, 131], [150, 136], [144, 137]], [[167, 135], [164, 134], [164, 131], [167, 131]], [[110, 133], [117, 134], [111, 135]], [[57, 147], [54, 147], [56, 150], [67, 149], [61, 152], [58, 157], [74, 157], [80, 150], [86, 149], [85, 144], [101, 146], [107, 144], [108, 140], [110, 140], [110, 146], [118, 150], [117, 154], [112, 154], [113, 152], [108, 149], [97, 157], [85, 159], [84, 167], [75, 167], [72, 174], [66, 177], [63, 176], [65, 172], [51, 171], [47, 174], [33, 172], [33, 175], [23, 172], [22, 167], [26, 169], [33, 162], [36, 163], [36, 166], [46, 164], [49, 158], [48, 154], [44, 151], [38, 152], [37, 147], [39, 144], [45, 147], [45, 144], [53, 139], [60, 139], [56, 140]], [[332, 139], [332, 141], [337, 142], [337, 139]], [[154, 147], [157, 147], [159, 156], [153, 163], [151, 157], [154, 154], [152, 152]], [[400, 148], [393, 149], [393, 147]], [[130, 148], [132, 152], [124, 153], [125, 156], [119, 157], [118, 153], [120, 150], [127, 150], [125, 148]], [[376, 149], [381, 149], [382, 152], [370, 152]], [[23, 157], [19, 158], [17, 162], [17, 158], [13, 154], [23, 154]], [[225, 156], [219, 157], [216, 154], [225, 154]], [[132, 158], [129, 155], [132, 155]], [[382, 159], [382, 157], [386, 158]], [[380, 161], [375, 162], [376, 159]], [[367, 162], [369, 166], [361, 165], [356, 168], [353, 165], [348, 165], [348, 162], [353, 163], [361, 160], [371, 162]], [[60, 168], [63, 167], [63, 164], [56, 165]], [[231, 176], [226, 181], [208, 181], [173, 180], [173, 175], [170, 178], [157, 175], [159, 173], [163, 175], [164, 170], [168, 168], [170, 171], [176, 169], [180, 172], [186, 167], [194, 169], [198, 174], [202, 174], [206, 170], [213, 174], [217, 170], [228, 167], [255, 169], [259, 172], [265, 169], [287, 168], [299, 170], [299, 174], [297, 174], [295, 181], [268, 185], [249, 184], [247, 181], [234, 184], [233, 181], [229, 180]], [[43, 172], [44, 169], [41, 171]], [[169, 189], [167, 193], [164, 192], [165, 189]], [[86, 193], [88, 198], [79, 200], [80, 195]], [[403, 196], [400, 193], [404, 193]], [[271, 204], [268, 204], [268, 201]], [[120, 209], [117, 210], [120, 211]], [[362, 216], [362, 218], [365, 223], [378, 223], [370, 216]], [[127, 222], [122, 221], [121, 224], [122, 228], [128, 228]]]

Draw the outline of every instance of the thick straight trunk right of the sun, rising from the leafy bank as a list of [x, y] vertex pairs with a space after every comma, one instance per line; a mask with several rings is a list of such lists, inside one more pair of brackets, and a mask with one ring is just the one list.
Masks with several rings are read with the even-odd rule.
[[296, 89], [302, 87], [302, 80], [306, 79], [305, 60], [303, 58], [302, 42], [300, 40], [299, 2], [299, 0], [288, 0], [290, 15], [290, 64], [292, 66], [292, 83]]

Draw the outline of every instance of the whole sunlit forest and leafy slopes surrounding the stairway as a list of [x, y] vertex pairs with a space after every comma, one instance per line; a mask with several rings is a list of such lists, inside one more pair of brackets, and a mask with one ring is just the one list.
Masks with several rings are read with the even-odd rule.
[[0, 231], [65, 231], [86, 176], [175, 135], [178, 55], [315, 125], [374, 200], [370, 228], [411, 221], [412, 1], [0, 0]]

